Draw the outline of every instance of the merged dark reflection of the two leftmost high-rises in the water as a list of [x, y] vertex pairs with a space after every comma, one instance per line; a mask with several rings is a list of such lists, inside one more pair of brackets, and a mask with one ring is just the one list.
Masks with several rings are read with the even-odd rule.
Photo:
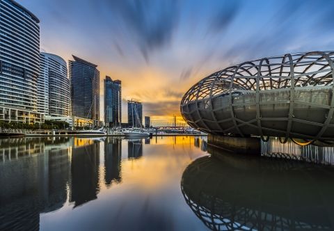
[[70, 148], [54, 143], [41, 138], [0, 140], [0, 230], [39, 230], [40, 213], [63, 207]]

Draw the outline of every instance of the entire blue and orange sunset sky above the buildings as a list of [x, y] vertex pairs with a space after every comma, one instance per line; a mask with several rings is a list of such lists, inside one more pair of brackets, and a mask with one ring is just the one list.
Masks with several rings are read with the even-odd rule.
[[333, 50], [328, 0], [17, 0], [40, 19], [40, 49], [98, 65], [122, 81], [153, 125], [182, 122], [180, 101], [200, 79], [231, 65], [299, 51]]

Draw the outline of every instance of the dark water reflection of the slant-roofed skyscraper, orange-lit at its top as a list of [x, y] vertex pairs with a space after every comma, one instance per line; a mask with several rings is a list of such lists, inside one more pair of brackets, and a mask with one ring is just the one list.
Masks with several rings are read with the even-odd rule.
[[71, 159], [70, 202], [74, 207], [95, 200], [99, 185], [100, 142], [90, 138], [74, 138]]

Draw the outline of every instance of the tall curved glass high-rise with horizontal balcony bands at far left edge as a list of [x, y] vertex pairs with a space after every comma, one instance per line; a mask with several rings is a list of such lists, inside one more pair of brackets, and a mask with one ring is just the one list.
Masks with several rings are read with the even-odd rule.
[[37, 111], [39, 19], [12, 0], [0, 0], [0, 120], [43, 122]]

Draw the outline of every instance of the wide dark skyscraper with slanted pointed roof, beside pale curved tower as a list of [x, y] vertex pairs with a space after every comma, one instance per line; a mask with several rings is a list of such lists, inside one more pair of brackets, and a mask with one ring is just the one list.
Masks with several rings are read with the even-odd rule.
[[73, 56], [69, 61], [72, 116], [100, 120], [100, 72], [97, 65]]

